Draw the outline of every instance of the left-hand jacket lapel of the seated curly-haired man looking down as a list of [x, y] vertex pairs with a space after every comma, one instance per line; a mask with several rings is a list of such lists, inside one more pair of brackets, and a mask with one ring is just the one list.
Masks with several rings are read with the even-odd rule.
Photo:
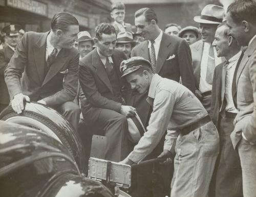
[[106, 74], [104, 65], [100, 60], [100, 57], [97, 52], [97, 48], [95, 48], [92, 58], [93, 58], [92, 65], [96, 68], [95, 72], [96, 72], [97, 76], [106, 85], [106, 87], [108, 87], [110, 89], [110, 91], [113, 93], [113, 89], [110, 84], [109, 77]]

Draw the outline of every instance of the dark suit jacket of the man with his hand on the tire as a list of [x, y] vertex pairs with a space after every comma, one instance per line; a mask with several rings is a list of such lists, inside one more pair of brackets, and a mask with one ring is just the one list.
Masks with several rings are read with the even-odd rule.
[[22, 92], [31, 101], [44, 99], [49, 106], [74, 100], [78, 86], [78, 51], [62, 48], [45, 76], [48, 34], [27, 32], [17, 45], [5, 70], [11, 98]]

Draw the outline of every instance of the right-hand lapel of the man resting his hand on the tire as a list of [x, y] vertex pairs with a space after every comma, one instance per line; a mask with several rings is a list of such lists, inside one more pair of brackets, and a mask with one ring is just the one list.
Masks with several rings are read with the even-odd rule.
[[69, 50], [62, 48], [58, 53], [56, 59], [54, 60], [53, 64], [51, 65], [42, 86], [49, 82], [63, 67], [65, 62], [68, 60], [69, 57]]

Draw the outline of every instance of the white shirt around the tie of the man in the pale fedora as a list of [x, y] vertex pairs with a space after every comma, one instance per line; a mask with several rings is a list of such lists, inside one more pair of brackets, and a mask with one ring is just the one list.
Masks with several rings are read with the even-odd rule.
[[[200, 83], [199, 83], [199, 90], [202, 93], [211, 91], [212, 89], [212, 86], [206, 82], [207, 62], [208, 62], [210, 45], [211, 43], [204, 42], [203, 54], [201, 59], [201, 69], [200, 69]], [[214, 47], [214, 58], [215, 58], [215, 66], [217, 66], [222, 62], [221, 58], [217, 57], [217, 52], [215, 47]]]

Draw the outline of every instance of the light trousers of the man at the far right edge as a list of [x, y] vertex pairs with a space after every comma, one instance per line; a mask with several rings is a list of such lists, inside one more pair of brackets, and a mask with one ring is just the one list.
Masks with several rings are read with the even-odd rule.
[[256, 144], [252, 145], [243, 137], [238, 144], [242, 167], [244, 197], [256, 197]]

